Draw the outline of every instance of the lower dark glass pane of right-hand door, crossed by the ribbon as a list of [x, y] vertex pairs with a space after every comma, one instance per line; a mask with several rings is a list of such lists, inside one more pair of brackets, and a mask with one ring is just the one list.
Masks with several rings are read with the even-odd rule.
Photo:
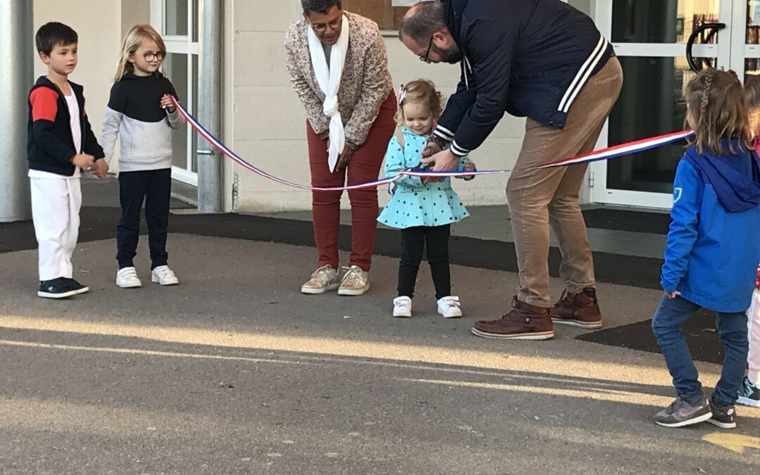
[[[610, 114], [610, 145], [653, 137], [683, 128], [682, 97], [694, 77], [685, 58], [621, 57], [625, 81]], [[647, 105], [641, 106], [641, 98]], [[647, 150], [607, 162], [607, 188], [670, 193], [684, 144]]]

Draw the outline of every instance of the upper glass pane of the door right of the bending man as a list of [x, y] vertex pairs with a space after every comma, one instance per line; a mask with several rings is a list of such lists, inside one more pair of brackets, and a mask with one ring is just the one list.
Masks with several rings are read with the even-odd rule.
[[[720, 0], [613, 0], [613, 43], [686, 43], [695, 27], [717, 23], [719, 13]], [[697, 43], [708, 43], [709, 33]]]

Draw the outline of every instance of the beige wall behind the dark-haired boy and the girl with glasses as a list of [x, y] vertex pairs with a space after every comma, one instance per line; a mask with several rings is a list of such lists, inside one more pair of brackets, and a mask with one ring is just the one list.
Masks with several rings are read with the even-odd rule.
[[[148, 22], [149, 5], [150, 0], [72, 0], [62, 8], [61, 2], [56, 0], [34, 1], [35, 31], [49, 21], [60, 21], [79, 35], [79, 62], [70, 79], [84, 86], [87, 116], [98, 138], [122, 34], [132, 23]], [[47, 74], [46, 66], [39, 59], [34, 73], [35, 78]], [[115, 168], [116, 160], [112, 166]]]

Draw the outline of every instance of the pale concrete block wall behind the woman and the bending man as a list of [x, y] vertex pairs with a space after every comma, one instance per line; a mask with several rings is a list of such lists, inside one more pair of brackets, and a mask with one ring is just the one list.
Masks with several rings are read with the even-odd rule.
[[[228, 2], [229, 4], [229, 2]], [[234, 33], [234, 71], [226, 87], [226, 110], [234, 110], [233, 131], [225, 138], [252, 163], [293, 182], [309, 183], [306, 152], [306, 114], [290, 87], [285, 68], [283, 43], [285, 31], [301, 15], [299, 0], [283, 2], [234, 2], [226, 11], [226, 25]], [[229, 5], [227, 5], [229, 8]], [[423, 65], [395, 36], [386, 38], [390, 69], [396, 87], [414, 78], [431, 78], [445, 93], [454, 91], [458, 66]], [[229, 117], [226, 117], [229, 119]], [[226, 122], [229, 127], [230, 122]], [[509, 169], [517, 157], [524, 134], [524, 119], [505, 116], [499, 127], [476, 153], [473, 160], [480, 169]], [[228, 182], [236, 196], [236, 211], [306, 210], [311, 207], [309, 192], [294, 191], [258, 178], [239, 166], [232, 166]], [[231, 175], [231, 176], [230, 176]], [[483, 176], [472, 182], [457, 180], [454, 186], [467, 204], [505, 202], [507, 175]], [[230, 185], [232, 186], [232, 185]], [[387, 194], [380, 193], [382, 203]], [[345, 198], [345, 197], [344, 197]], [[347, 200], [344, 199], [344, 205]]]

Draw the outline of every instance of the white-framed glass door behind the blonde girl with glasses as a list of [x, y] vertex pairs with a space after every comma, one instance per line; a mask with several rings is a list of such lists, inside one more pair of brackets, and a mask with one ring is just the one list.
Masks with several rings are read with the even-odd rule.
[[[198, 0], [150, 0], [150, 24], [166, 43], [163, 74], [172, 81], [179, 100], [198, 115]], [[197, 132], [172, 131], [172, 178], [198, 185]]]

